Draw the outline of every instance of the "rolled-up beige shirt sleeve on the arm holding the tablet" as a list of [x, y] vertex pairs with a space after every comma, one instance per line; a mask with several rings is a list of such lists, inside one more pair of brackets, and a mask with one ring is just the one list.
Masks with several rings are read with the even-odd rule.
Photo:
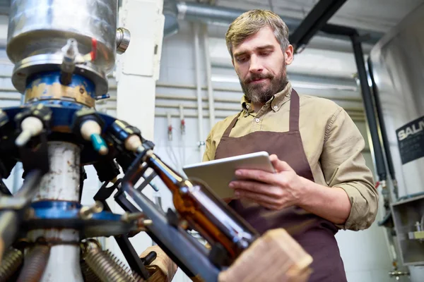
[[338, 228], [353, 231], [371, 226], [377, 216], [378, 192], [370, 168], [365, 164], [365, 140], [346, 111], [339, 108], [329, 121], [321, 164], [329, 187], [346, 191], [351, 213]]

